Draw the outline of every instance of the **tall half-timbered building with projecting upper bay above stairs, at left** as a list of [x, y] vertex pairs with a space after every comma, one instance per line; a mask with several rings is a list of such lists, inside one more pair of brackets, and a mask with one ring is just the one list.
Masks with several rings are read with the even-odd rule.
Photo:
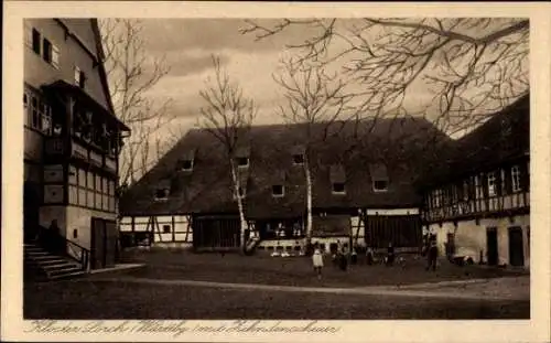
[[[95, 19], [24, 20], [25, 240], [55, 223], [83, 269], [115, 264], [118, 156]], [[75, 257], [73, 256], [73, 257]]]

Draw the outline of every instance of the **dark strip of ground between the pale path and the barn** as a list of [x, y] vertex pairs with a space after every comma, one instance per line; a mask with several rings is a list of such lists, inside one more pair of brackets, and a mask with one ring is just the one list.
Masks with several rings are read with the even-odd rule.
[[458, 267], [446, 260], [436, 271], [426, 271], [425, 259], [404, 254], [403, 264], [387, 267], [367, 266], [359, 261], [343, 271], [325, 257], [322, 280], [315, 277], [307, 257], [270, 257], [257, 254], [244, 257], [237, 254], [191, 254], [182, 251], [136, 251], [125, 256], [128, 262], [145, 264], [132, 272], [136, 277], [153, 279], [185, 279], [214, 282], [261, 283], [298, 287], [363, 287], [402, 286], [450, 280], [487, 279], [526, 275], [525, 270], [507, 270], [482, 266]]

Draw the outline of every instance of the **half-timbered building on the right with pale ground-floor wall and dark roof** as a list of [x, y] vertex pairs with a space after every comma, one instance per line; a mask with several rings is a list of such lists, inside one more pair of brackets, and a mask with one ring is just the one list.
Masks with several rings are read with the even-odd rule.
[[455, 144], [425, 183], [425, 234], [442, 251], [488, 265], [530, 264], [530, 103], [525, 96]]

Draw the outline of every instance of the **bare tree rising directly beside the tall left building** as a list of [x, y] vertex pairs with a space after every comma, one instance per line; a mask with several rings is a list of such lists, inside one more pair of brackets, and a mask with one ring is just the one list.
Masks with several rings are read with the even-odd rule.
[[179, 137], [166, 135], [174, 117], [171, 99], [156, 101], [148, 93], [169, 74], [164, 58], [145, 53], [142, 21], [100, 21], [106, 69], [115, 112], [131, 129], [120, 153], [120, 184], [136, 182]]

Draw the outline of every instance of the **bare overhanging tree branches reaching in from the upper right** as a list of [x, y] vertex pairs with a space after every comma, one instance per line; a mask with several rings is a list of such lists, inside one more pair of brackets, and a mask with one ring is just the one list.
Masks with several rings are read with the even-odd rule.
[[408, 112], [431, 116], [450, 135], [529, 92], [528, 19], [283, 19], [247, 21], [241, 33], [262, 40], [296, 25], [318, 33], [288, 45], [295, 63], [341, 67], [366, 110], [397, 112], [408, 95], [426, 90], [426, 104]]

